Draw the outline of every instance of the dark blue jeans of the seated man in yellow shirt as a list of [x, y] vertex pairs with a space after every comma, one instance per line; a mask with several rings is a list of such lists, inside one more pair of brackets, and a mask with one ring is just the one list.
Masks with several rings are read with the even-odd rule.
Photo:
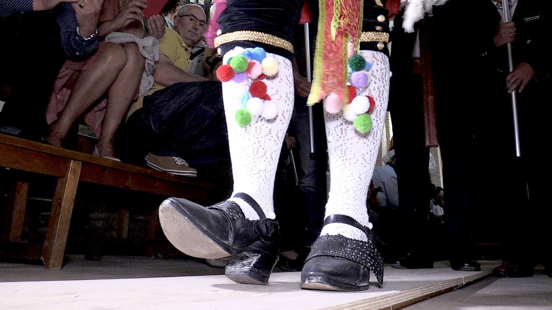
[[151, 153], [189, 165], [230, 160], [222, 88], [218, 81], [176, 83], [144, 97], [129, 117]]

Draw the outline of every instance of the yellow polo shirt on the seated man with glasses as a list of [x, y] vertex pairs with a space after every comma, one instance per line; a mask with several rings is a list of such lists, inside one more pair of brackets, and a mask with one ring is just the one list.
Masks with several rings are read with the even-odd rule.
[[[184, 43], [178, 32], [169, 28], [165, 29], [165, 35], [159, 39], [159, 54], [171, 59], [175, 67], [182, 69], [184, 72], [188, 72], [190, 68], [190, 48]], [[126, 114], [126, 119], [128, 119], [134, 111], [142, 107], [144, 96], [149, 96], [155, 93], [155, 91], [163, 88], [165, 88], [165, 86], [155, 82], [153, 87], [148, 90], [146, 94], [138, 97], [136, 101], [132, 102], [129, 112]]]

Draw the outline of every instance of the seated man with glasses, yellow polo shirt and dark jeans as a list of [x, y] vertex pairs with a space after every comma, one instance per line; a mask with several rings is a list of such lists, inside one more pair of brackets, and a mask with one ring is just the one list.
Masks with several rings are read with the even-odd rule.
[[156, 83], [130, 107], [127, 118], [148, 166], [188, 177], [197, 175], [188, 162], [230, 158], [221, 84], [188, 73], [189, 46], [201, 39], [206, 23], [198, 4], [178, 10], [174, 30], [167, 29], [159, 40]]

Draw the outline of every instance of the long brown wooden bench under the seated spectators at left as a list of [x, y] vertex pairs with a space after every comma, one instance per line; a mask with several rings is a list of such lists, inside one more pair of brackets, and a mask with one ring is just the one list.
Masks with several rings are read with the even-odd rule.
[[[0, 257], [41, 259], [47, 269], [62, 267], [79, 182], [166, 197], [182, 197], [204, 204], [212, 204], [225, 198], [217, 197], [220, 191], [217, 191], [213, 183], [5, 134], [0, 134], [0, 167], [57, 178], [44, 243], [30, 244], [21, 240], [29, 188], [26, 181], [17, 181], [13, 193], [8, 195], [2, 230], [3, 242], [0, 243]], [[154, 212], [152, 216], [157, 221], [157, 211]], [[153, 229], [152, 227], [151, 230]], [[148, 235], [152, 233], [148, 232]]]

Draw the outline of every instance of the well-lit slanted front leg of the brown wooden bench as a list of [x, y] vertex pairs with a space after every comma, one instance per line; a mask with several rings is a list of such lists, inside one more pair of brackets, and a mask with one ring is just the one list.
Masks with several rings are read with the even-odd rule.
[[65, 178], [57, 180], [56, 193], [52, 200], [52, 210], [48, 220], [46, 240], [42, 250], [44, 267], [47, 269], [61, 269], [65, 245], [71, 223], [73, 204], [77, 194], [78, 180], [81, 175], [80, 161], [71, 160]]

